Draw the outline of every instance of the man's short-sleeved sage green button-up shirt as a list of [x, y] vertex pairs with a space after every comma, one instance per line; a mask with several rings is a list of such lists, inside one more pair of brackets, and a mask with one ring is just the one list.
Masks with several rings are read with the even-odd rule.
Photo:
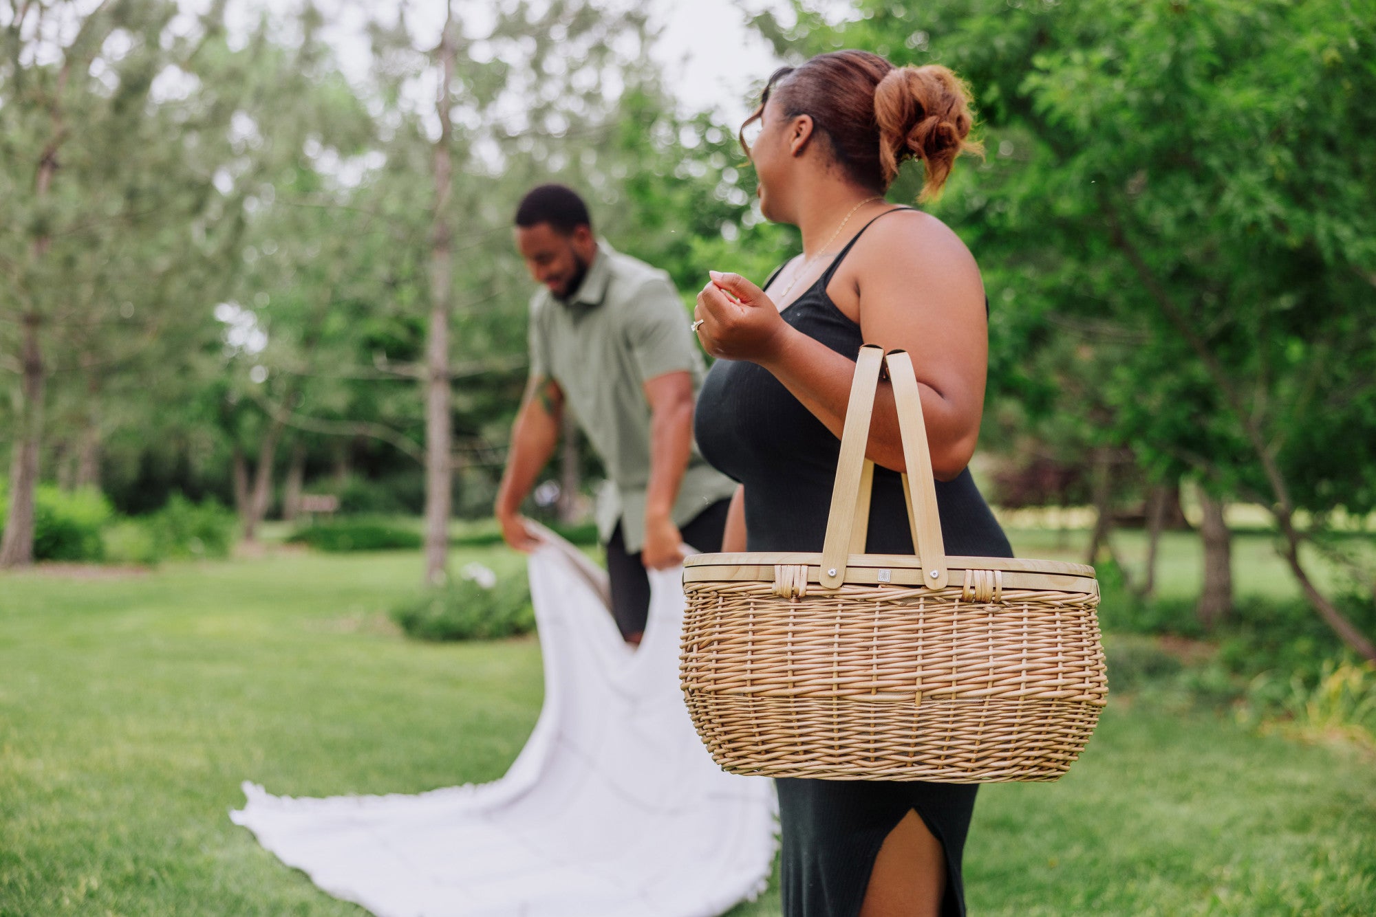
[[[578, 290], [560, 301], [541, 289], [530, 301], [530, 371], [564, 390], [564, 404], [603, 459], [611, 478], [599, 494], [603, 543], [618, 520], [627, 551], [645, 542], [649, 484], [649, 403], [644, 384], [665, 373], [705, 373], [688, 315], [665, 271], [612, 250], [605, 242]], [[735, 484], [707, 465], [694, 445], [678, 485], [673, 520], [687, 525]]]

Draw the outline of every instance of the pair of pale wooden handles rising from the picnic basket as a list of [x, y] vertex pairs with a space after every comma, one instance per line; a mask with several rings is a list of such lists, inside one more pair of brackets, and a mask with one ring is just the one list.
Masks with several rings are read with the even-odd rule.
[[[870, 443], [870, 421], [874, 415], [875, 392], [879, 388], [879, 368], [885, 362], [889, 366], [893, 400], [899, 411], [903, 459], [910, 472], [903, 476], [903, 496], [908, 510], [908, 525], [912, 529], [912, 546], [925, 573], [922, 584], [927, 588], [945, 588], [948, 582], [941, 517], [937, 514], [936, 477], [932, 473], [932, 452], [927, 447], [922, 396], [916, 374], [912, 371], [912, 360], [904, 351], [890, 351], [885, 360], [882, 348], [866, 344], [856, 357], [854, 381], [850, 384], [850, 400], [846, 404], [846, 421], [841, 432], [841, 458], [837, 462], [827, 535], [821, 547], [819, 580], [823, 588], [839, 587], [846, 579], [849, 555], [864, 550], [864, 532], [870, 517], [868, 491], [874, 474], [874, 463], [866, 459], [864, 452]], [[912, 481], [916, 481], [916, 487]]]

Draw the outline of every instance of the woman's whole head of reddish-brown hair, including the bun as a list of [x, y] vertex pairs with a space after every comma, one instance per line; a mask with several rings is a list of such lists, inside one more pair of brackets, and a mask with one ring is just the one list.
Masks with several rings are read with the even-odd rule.
[[941, 191], [960, 153], [982, 153], [967, 137], [974, 125], [970, 89], [938, 63], [896, 67], [868, 51], [819, 54], [769, 77], [760, 106], [740, 125], [758, 121], [771, 96], [786, 118], [812, 117], [831, 155], [854, 183], [888, 191], [905, 159], [922, 159], [922, 198]]

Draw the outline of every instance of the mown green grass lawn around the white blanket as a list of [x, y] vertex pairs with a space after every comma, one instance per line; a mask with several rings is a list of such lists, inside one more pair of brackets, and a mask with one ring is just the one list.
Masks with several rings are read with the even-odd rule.
[[[1018, 549], [1073, 554], [1055, 539]], [[1190, 587], [1190, 547], [1167, 543], [1163, 590]], [[1282, 584], [1265, 540], [1238, 550], [1244, 590]], [[519, 572], [495, 549], [455, 560]], [[361, 914], [227, 810], [244, 780], [334, 795], [504, 773], [539, 708], [538, 643], [400, 638], [383, 610], [418, 579], [413, 553], [0, 577], [0, 914]], [[973, 914], [1370, 914], [1376, 762], [1116, 696], [1064, 781], [981, 791], [966, 876]], [[733, 917], [776, 914], [775, 895]]]

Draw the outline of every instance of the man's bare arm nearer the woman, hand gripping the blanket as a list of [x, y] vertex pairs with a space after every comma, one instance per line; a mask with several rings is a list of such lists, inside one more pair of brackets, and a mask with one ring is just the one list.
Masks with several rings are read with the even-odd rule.
[[692, 374], [665, 373], [644, 386], [649, 401], [649, 484], [640, 557], [645, 566], [663, 569], [682, 560], [682, 535], [674, 525], [673, 509], [692, 452]]

